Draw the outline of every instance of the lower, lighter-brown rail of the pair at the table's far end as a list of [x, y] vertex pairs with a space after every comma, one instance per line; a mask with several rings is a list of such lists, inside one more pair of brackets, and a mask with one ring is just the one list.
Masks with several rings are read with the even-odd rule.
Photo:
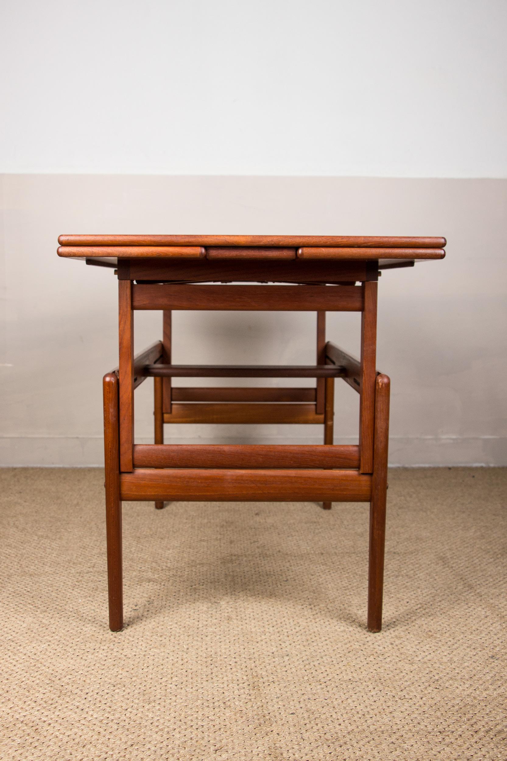
[[165, 423], [312, 423], [324, 422], [323, 415], [315, 414], [315, 404], [283, 403], [173, 403], [171, 415], [164, 415]]

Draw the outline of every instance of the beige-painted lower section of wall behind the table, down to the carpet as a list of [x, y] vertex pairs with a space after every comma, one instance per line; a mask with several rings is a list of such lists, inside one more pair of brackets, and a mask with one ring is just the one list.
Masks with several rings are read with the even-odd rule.
[[[507, 180], [8, 175], [4, 206], [3, 463], [103, 457], [101, 378], [118, 361], [118, 285], [111, 270], [59, 259], [59, 233], [290, 231], [448, 237], [445, 260], [379, 282], [391, 463], [507, 465]], [[135, 314], [138, 350], [160, 339], [160, 323], [159, 313]], [[329, 338], [353, 353], [359, 327], [358, 314], [328, 317]], [[174, 338], [182, 364], [315, 361], [311, 314], [176, 313]], [[358, 397], [341, 381], [337, 390], [336, 441], [353, 443]], [[153, 382], [135, 394], [136, 436], [153, 441]], [[322, 435], [311, 425], [166, 425], [169, 441], [196, 443]]]

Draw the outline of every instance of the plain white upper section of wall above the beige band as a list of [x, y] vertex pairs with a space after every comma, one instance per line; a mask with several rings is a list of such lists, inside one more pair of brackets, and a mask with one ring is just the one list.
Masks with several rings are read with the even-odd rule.
[[4, 0], [0, 171], [507, 177], [505, 0]]

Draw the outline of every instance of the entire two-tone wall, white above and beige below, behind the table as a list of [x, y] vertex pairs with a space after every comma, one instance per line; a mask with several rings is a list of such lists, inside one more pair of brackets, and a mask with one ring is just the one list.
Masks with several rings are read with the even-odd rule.
[[[445, 235], [444, 262], [381, 281], [391, 462], [507, 463], [505, 0], [4, 0], [0, 14], [0, 463], [102, 460], [116, 283], [58, 260], [62, 232]], [[352, 351], [354, 317], [329, 319]], [[159, 323], [137, 316], [139, 348]], [[209, 362], [313, 361], [302, 315], [175, 323], [176, 361], [194, 361], [191, 341]], [[150, 441], [151, 381], [136, 393]], [[344, 387], [337, 441], [356, 428]]]

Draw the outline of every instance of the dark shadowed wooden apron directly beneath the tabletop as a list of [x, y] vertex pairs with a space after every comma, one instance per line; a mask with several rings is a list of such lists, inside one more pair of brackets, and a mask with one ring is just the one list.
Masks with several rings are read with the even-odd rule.
[[134, 259], [128, 268], [119, 260], [119, 279], [158, 282], [292, 282], [341, 283], [376, 280], [366, 261], [350, 260], [209, 260]]

